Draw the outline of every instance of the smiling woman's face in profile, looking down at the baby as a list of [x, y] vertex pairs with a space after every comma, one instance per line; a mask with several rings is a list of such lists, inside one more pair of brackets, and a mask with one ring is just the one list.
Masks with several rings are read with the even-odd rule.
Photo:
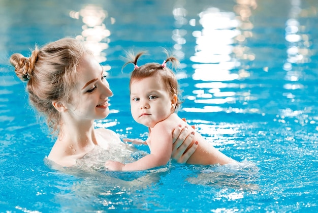
[[101, 65], [94, 56], [85, 54], [77, 67], [76, 88], [67, 112], [75, 120], [103, 119], [109, 114], [108, 97], [113, 93]]

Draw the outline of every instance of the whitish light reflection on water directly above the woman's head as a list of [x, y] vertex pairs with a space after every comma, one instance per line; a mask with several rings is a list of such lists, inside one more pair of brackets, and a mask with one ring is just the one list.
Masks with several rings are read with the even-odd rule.
[[[82, 18], [82, 34], [76, 39], [84, 41], [85, 45], [93, 52], [99, 63], [107, 60], [105, 50], [108, 49], [110, 42], [110, 31], [104, 24], [105, 18], [108, 17], [107, 11], [97, 5], [85, 5], [80, 11], [71, 11], [70, 17], [74, 19]], [[115, 22], [110, 18], [111, 23]], [[110, 70], [109, 66], [104, 66], [104, 70]]]

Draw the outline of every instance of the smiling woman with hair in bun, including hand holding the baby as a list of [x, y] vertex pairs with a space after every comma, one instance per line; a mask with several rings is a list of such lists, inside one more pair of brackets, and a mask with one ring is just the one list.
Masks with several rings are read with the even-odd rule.
[[[108, 116], [108, 97], [113, 93], [102, 67], [80, 41], [60, 39], [36, 47], [30, 57], [15, 53], [10, 63], [16, 75], [27, 81], [30, 103], [47, 117], [52, 133], [57, 133], [49, 160], [69, 167], [96, 146], [108, 150], [122, 143], [115, 132], [94, 128], [95, 119]], [[197, 148], [193, 144], [187, 149], [193, 137], [187, 128], [176, 127], [173, 159], [188, 160]]]

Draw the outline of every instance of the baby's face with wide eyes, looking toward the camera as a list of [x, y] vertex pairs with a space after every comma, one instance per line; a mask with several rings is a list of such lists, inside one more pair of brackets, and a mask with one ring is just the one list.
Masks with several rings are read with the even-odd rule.
[[172, 113], [174, 99], [160, 77], [133, 80], [130, 90], [131, 112], [139, 124], [152, 128]]

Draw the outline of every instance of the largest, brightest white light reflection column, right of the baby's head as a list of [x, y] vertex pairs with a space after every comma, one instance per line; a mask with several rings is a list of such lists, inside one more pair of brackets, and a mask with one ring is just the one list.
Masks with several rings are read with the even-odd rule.
[[[249, 53], [249, 48], [243, 45], [246, 38], [252, 37], [251, 29], [253, 24], [249, 21], [251, 10], [256, 9], [255, 0], [237, 0], [234, 12], [220, 11], [218, 8], [208, 8], [199, 13], [199, 20], [190, 19], [189, 25], [201, 24], [201, 31], [194, 31], [196, 38], [195, 54], [190, 57], [194, 62], [193, 79], [206, 81], [206, 83], [195, 84], [198, 90], [194, 90], [194, 96], [187, 99], [195, 103], [208, 105], [202, 109], [186, 108], [186, 111], [200, 112], [237, 112], [255, 113], [256, 110], [228, 109], [209, 105], [221, 105], [252, 100], [250, 93], [237, 93], [237, 89], [242, 88], [241, 84], [224, 83], [224, 81], [234, 81], [248, 78], [248, 66], [244, 66], [244, 60], [251, 61], [255, 55]], [[240, 67], [239, 71], [232, 70]], [[229, 88], [233, 90], [229, 91]], [[223, 89], [226, 89], [223, 90]], [[200, 93], [198, 93], [200, 92]], [[239, 97], [244, 95], [244, 97]]]

